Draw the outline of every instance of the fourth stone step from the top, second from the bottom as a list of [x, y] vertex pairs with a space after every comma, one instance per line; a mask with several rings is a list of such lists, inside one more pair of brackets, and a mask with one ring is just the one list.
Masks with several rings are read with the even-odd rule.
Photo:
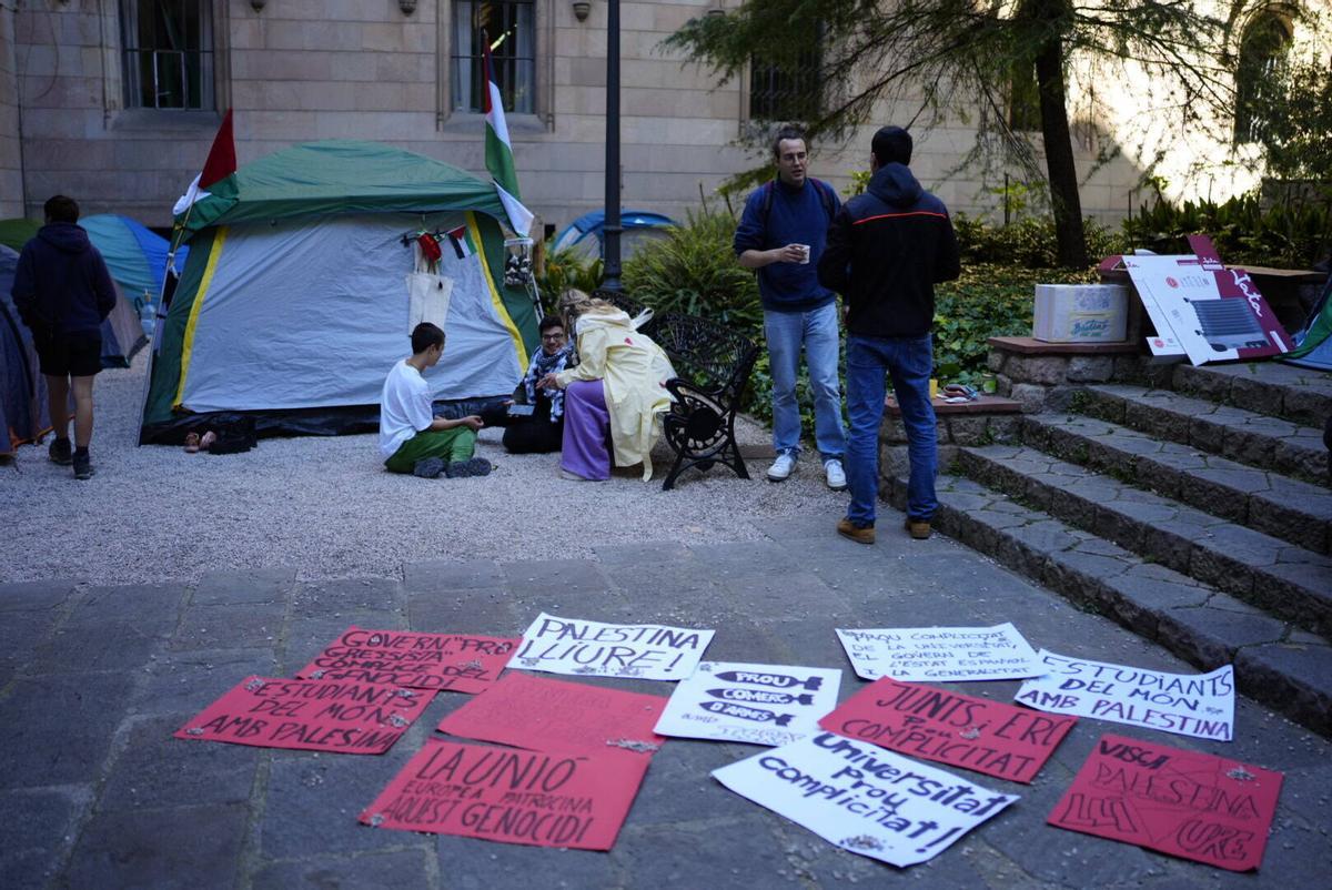
[[1026, 445], [959, 448], [971, 478], [1332, 638], [1332, 558]]

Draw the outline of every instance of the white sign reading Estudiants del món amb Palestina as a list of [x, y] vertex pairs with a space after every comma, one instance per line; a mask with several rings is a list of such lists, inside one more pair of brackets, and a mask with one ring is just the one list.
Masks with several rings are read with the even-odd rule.
[[1054, 714], [1096, 717], [1163, 733], [1231, 741], [1235, 670], [1169, 674], [1040, 650], [1046, 674], [1018, 689], [1016, 701]]

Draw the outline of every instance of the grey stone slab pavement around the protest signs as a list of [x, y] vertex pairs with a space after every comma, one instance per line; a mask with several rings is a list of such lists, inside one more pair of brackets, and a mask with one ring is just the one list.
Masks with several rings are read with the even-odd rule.
[[[1164, 649], [1078, 612], [947, 538], [832, 534], [835, 514], [767, 538], [595, 549], [569, 561], [441, 560], [401, 578], [297, 582], [257, 568], [176, 584], [0, 585], [3, 887], [939, 887], [1325, 886], [1327, 741], [1248, 699], [1212, 743], [1083, 719], [1022, 799], [935, 861], [895, 870], [844, 853], [725, 790], [710, 770], [759, 749], [673, 739], [613, 851], [519, 847], [374, 830], [356, 817], [466, 697], [444, 693], [382, 757], [181, 742], [172, 731], [248, 674], [290, 675], [348, 625], [517, 636], [542, 610], [714, 628], [709, 658], [843, 669], [834, 628], [1012, 621], [1035, 646], [1192, 673]], [[274, 557], [280, 560], [278, 557]], [[603, 682], [667, 695], [646, 681]], [[1016, 681], [959, 683], [1010, 699]], [[1103, 731], [1281, 770], [1261, 870], [1235, 875], [1044, 823]], [[959, 771], [960, 770], [955, 770]], [[1321, 877], [1319, 877], [1321, 875]]]

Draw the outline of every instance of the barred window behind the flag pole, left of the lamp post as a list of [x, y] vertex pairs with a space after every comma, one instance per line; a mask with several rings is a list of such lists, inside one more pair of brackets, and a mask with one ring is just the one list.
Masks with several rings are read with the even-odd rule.
[[506, 112], [535, 113], [537, 53], [534, 0], [454, 0], [453, 108], [485, 108], [482, 41], [490, 41], [496, 85]]

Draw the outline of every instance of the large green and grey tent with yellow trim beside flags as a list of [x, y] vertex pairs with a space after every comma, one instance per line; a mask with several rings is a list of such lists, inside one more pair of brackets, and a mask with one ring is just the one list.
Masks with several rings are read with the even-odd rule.
[[141, 442], [212, 413], [260, 433], [369, 432], [406, 356], [413, 242], [438, 234], [452, 284], [437, 400], [513, 390], [537, 341], [531, 300], [503, 282], [490, 183], [376, 143], [296, 145], [238, 168], [176, 220], [190, 246], [159, 322]]

